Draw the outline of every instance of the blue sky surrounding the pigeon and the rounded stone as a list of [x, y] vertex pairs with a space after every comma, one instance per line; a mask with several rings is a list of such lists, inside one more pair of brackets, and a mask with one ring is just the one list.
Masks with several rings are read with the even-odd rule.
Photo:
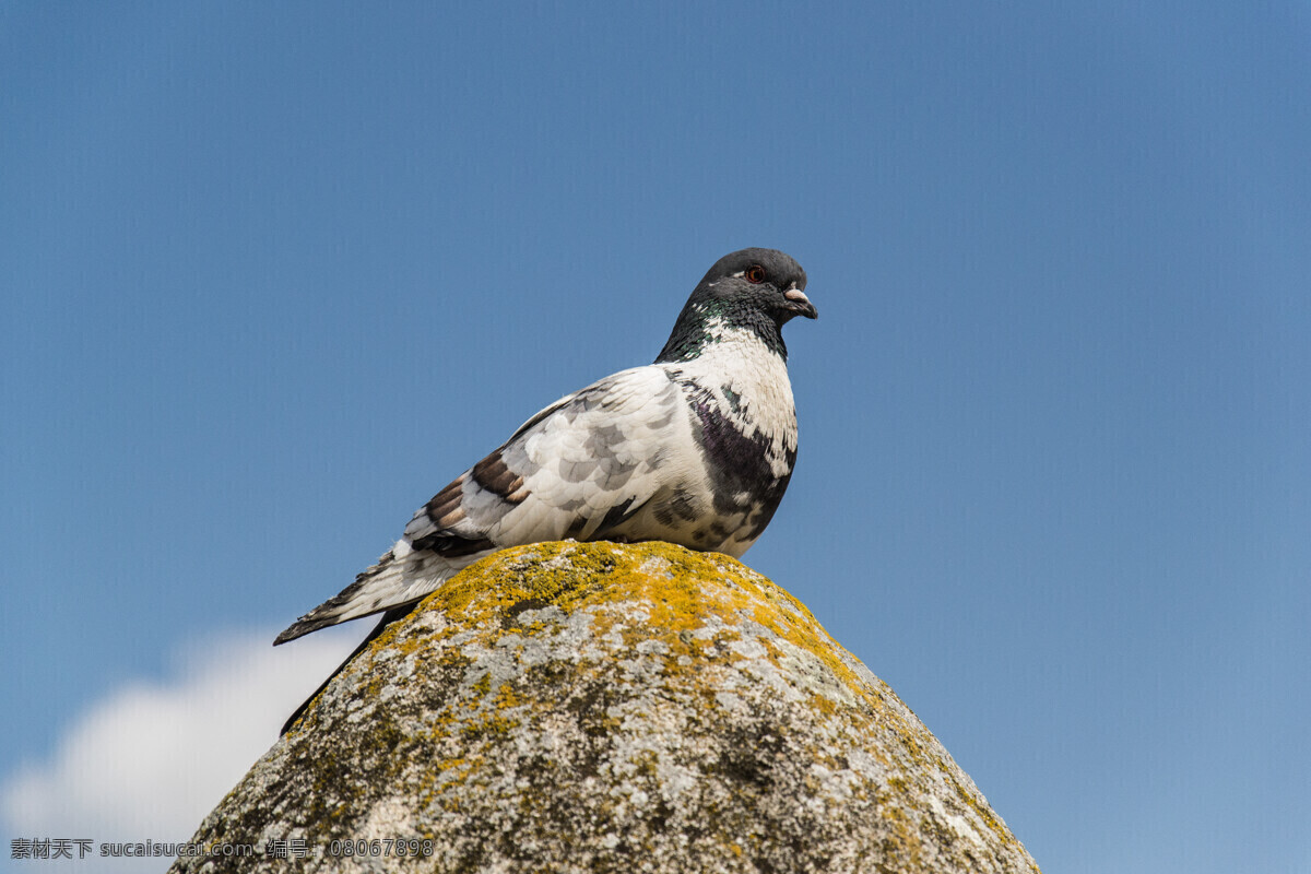
[[763, 245], [747, 563], [1045, 870], [1311, 870], [1311, 7], [465, 7], [0, 10], [4, 837], [180, 839], [79, 739], [265, 689], [207, 811], [367, 629], [260, 641]]

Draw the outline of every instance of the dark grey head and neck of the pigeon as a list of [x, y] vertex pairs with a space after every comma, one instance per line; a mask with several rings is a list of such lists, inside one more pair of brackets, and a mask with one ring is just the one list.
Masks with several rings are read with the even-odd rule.
[[726, 254], [697, 283], [656, 360], [697, 358], [729, 332], [749, 332], [787, 359], [783, 325], [793, 316], [818, 316], [805, 287], [806, 271], [777, 249]]

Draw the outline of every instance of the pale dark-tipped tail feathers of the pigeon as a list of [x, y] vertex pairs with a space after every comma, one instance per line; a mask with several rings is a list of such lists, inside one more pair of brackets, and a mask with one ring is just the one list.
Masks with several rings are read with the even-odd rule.
[[354, 583], [292, 622], [273, 645], [417, 601], [440, 586], [454, 570], [451, 562], [439, 554], [414, 552], [409, 542], [400, 540], [376, 565], [355, 577]]

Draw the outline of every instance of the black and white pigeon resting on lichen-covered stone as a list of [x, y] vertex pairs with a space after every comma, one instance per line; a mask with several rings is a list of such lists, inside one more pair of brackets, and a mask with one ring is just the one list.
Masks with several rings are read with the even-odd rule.
[[773, 518], [797, 460], [783, 325], [817, 318], [806, 274], [776, 249], [705, 273], [652, 364], [566, 394], [420, 507], [396, 545], [274, 646], [338, 622], [387, 625], [460, 569], [507, 546], [662, 540], [741, 558]]

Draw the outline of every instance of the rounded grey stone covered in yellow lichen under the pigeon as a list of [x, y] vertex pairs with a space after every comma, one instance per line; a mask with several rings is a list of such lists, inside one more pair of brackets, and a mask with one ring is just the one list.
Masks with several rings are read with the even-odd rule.
[[174, 871], [1037, 871], [805, 607], [667, 544], [538, 544], [467, 569], [193, 840], [308, 852]]

